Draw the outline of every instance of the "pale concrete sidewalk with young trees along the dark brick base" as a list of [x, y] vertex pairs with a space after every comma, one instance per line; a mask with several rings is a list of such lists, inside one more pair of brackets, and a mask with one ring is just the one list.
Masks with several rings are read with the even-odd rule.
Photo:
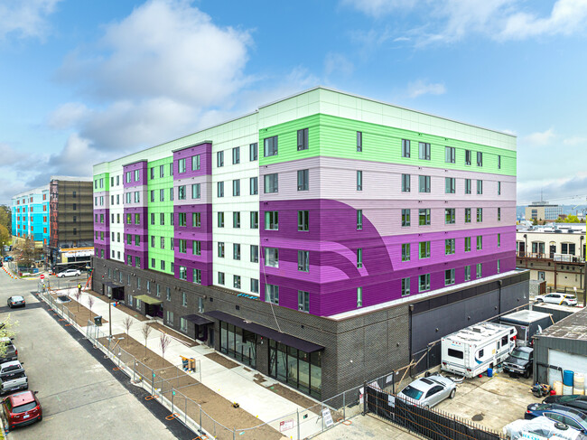
[[[77, 289], [71, 288], [61, 290], [60, 292], [68, 292], [71, 295], [75, 290]], [[83, 292], [79, 298], [79, 303], [87, 304], [88, 296], [89, 294], [87, 292]], [[105, 319], [108, 319], [108, 304], [104, 301], [97, 300], [92, 307], [92, 312], [98, 315], [101, 314]], [[116, 307], [111, 307], [111, 314], [112, 334], [126, 333], [123, 321], [130, 315], [117, 310]], [[137, 342], [144, 345], [144, 337], [141, 332], [144, 322], [132, 316], [131, 318], [134, 323], [130, 328], [129, 334]], [[102, 326], [102, 332], [108, 332], [108, 324]], [[153, 329], [146, 344], [147, 348], [159, 355], [161, 355], [161, 348], [159, 346], [161, 334], [162, 332]], [[183, 342], [174, 338], [171, 339], [172, 342], [165, 351], [165, 360], [168, 360], [173, 365], [179, 365], [181, 363], [180, 356], [200, 360], [201, 383], [230, 402], [238, 402], [240, 407], [259, 419], [259, 424], [273, 421], [277, 417], [283, 417], [287, 414], [305, 409], [286, 398], [282, 398], [264, 386], [257, 384], [254, 380], [256, 379], [255, 376], [258, 377], [260, 374], [258, 371], [252, 369], [247, 369], [247, 371], [241, 364], [238, 364], [238, 367], [228, 369], [205, 356], [218, 351], [214, 351], [204, 344], [195, 347], [186, 347]], [[236, 360], [233, 361], [238, 363]], [[192, 373], [192, 376], [194, 379], [200, 379], [200, 374], [198, 373]], [[264, 378], [269, 383], [276, 382], [275, 379]]]

